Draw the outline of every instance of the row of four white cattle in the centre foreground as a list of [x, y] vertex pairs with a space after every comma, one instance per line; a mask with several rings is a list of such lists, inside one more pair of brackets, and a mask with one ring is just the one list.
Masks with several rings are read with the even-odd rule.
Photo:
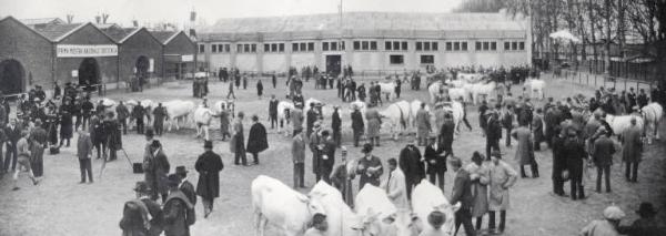
[[286, 236], [303, 235], [315, 214], [326, 216], [329, 236], [412, 236], [433, 226], [431, 213], [445, 215], [442, 229], [453, 235], [454, 213], [460, 204], [451, 205], [443, 192], [423, 179], [412, 192], [412, 211], [397, 208], [383, 188], [366, 184], [356, 194], [352, 209], [337, 188], [320, 181], [301, 194], [279, 179], [260, 175], [252, 181], [252, 207], [255, 234], [264, 236], [266, 225]]

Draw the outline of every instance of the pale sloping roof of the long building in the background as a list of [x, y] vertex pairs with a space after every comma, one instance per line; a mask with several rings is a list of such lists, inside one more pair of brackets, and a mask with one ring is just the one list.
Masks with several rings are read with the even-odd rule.
[[[523, 21], [505, 13], [406, 13], [406, 12], [345, 12], [344, 30], [423, 30], [423, 31], [523, 31]], [[202, 33], [302, 32], [340, 30], [340, 14], [305, 14], [264, 18], [220, 19], [211, 27], [198, 29]]]

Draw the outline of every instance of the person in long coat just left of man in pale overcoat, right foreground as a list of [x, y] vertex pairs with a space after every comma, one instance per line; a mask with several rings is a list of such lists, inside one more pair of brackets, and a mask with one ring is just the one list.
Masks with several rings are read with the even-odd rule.
[[483, 215], [488, 212], [488, 184], [491, 183], [491, 165], [490, 160], [474, 152], [472, 163], [465, 166], [465, 171], [470, 173], [472, 179], [472, 195], [474, 202], [472, 204], [472, 217], [476, 218], [476, 230], [481, 229]]

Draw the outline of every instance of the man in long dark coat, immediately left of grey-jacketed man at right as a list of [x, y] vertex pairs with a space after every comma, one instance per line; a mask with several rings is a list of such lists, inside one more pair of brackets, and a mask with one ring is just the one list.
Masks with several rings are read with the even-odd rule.
[[569, 171], [571, 176], [572, 199], [584, 199], [585, 192], [583, 187], [583, 164], [584, 160], [587, 160], [585, 145], [578, 138], [576, 132], [569, 130], [563, 146], [562, 154], [566, 158], [566, 168]]

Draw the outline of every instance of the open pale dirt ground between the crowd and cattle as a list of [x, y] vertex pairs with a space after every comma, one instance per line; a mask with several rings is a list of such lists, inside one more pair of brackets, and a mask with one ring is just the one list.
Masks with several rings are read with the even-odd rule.
[[[547, 79], [548, 85], [546, 96], [556, 99], [574, 95], [576, 93], [592, 94], [591, 89], [571, 81]], [[369, 83], [370, 81], [365, 81]], [[284, 99], [284, 81], [280, 81], [278, 89], [270, 85], [270, 80], [263, 80], [264, 94], [278, 94]], [[261, 121], [268, 123], [269, 99], [259, 100], [251, 81], [248, 90], [236, 90], [236, 112], [244, 111], [246, 114], [258, 114]], [[341, 104], [336, 98], [335, 90], [313, 90], [312, 83], [306, 83], [304, 96], [317, 98], [327, 104]], [[226, 95], [228, 84], [221, 82], [211, 83], [211, 101], [216, 101]], [[517, 92], [518, 88], [514, 86]], [[151, 99], [153, 101], [169, 101], [173, 99], [191, 98], [192, 89], [189, 83], [170, 83], [160, 88], [148, 89], [143, 93], [110, 93], [108, 96], [114, 100]], [[415, 92], [403, 86], [401, 99], [412, 101], [418, 99], [428, 101], [425, 90]], [[386, 105], [384, 105], [386, 106]], [[346, 107], [346, 105], [344, 106]], [[478, 131], [477, 106], [468, 106], [468, 120], [474, 131], [466, 129], [454, 142], [454, 152], [465, 163], [474, 151], [484, 151], [484, 138]], [[330, 117], [326, 117], [330, 120]], [[350, 122], [349, 115], [343, 116], [343, 123]], [[249, 130], [250, 122], [245, 122]], [[214, 125], [216, 126], [216, 125]], [[664, 125], [660, 130], [664, 131]], [[216, 131], [212, 132], [215, 138]], [[194, 137], [194, 131], [184, 129], [179, 132], [165, 133], [159, 137], [164, 144], [164, 150], [171, 162], [172, 172], [175, 166], [184, 165], [190, 170], [190, 182], [196, 184], [198, 174], [193, 165], [202, 153], [202, 141]], [[401, 137], [397, 142], [382, 141], [382, 147], [375, 150], [374, 154], [384, 161], [397, 157], [407, 137]], [[240, 167], [233, 165], [233, 156], [229, 153], [228, 142], [215, 141], [214, 151], [222, 155], [225, 168], [221, 177], [221, 197], [215, 201], [215, 209], [209, 218], [203, 218], [201, 204], [196, 205], [198, 222], [191, 227], [192, 235], [252, 235], [253, 223], [251, 212], [250, 183], [260, 174], [269, 175], [291, 185], [292, 165], [290, 156], [290, 140], [275, 134], [269, 130], [270, 148], [260, 155], [261, 165]], [[140, 162], [142, 156], [143, 136], [131, 132], [123, 137], [124, 148], [131, 162]], [[103, 177], [99, 178], [101, 162], [93, 161], [94, 184], [78, 184], [79, 165], [75, 154], [75, 138], [71, 147], [64, 147], [58, 155], [44, 156], [44, 178], [39, 186], [31, 186], [28, 178], [20, 178], [21, 189], [11, 191], [11, 176], [4, 175], [0, 178], [0, 236], [14, 235], [119, 235], [121, 233], [118, 223], [122, 215], [122, 205], [125, 201], [134, 197], [132, 187], [143, 175], [132, 174], [131, 166], [122, 154], [119, 160], [108, 163]], [[504, 144], [504, 141], [502, 141]], [[360, 157], [361, 150], [351, 146], [351, 140], [346, 137], [344, 144], [350, 151], [351, 157]], [[545, 144], [544, 144], [545, 146]], [[506, 150], [502, 145], [507, 160], [517, 170], [514, 161], [515, 147]], [[577, 235], [579, 229], [592, 219], [602, 217], [603, 209], [609, 204], [619, 205], [627, 217], [623, 224], [630, 224], [637, 218], [635, 211], [643, 201], [653, 202], [662, 211], [660, 219], [666, 218], [664, 199], [666, 199], [666, 152], [665, 141], [649, 145], [644, 153], [644, 161], [639, 166], [638, 183], [630, 184], [624, 179], [624, 170], [619, 163], [619, 155], [615, 156], [615, 165], [612, 168], [613, 193], [597, 194], [594, 192], [594, 178], [586, 178], [585, 191], [588, 198], [572, 202], [569, 198], [557, 197], [552, 194], [551, 170], [552, 155], [549, 150], [536, 153], [539, 163], [539, 178], [521, 178], [511, 189], [512, 208], [507, 214], [507, 228], [504, 235], [515, 236], [565, 236]], [[309, 152], [307, 152], [309, 153]], [[662, 153], [662, 154], [659, 154]], [[336, 157], [340, 158], [340, 157]], [[312, 174], [311, 155], [306, 157], [307, 186], [314, 185]], [[451, 194], [452, 173], [446, 178], [445, 194]], [[565, 186], [568, 192], [568, 184]], [[305, 193], [306, 191], [302, 191]], [[485, 218], [487, 222], [487, 217]], [[487, 223], [484, 223], [484, 228]], [[269, 228], [269, 235], [275, 235], [273, 227]], [[462, 234], [462, 233], [461, 233]]]

